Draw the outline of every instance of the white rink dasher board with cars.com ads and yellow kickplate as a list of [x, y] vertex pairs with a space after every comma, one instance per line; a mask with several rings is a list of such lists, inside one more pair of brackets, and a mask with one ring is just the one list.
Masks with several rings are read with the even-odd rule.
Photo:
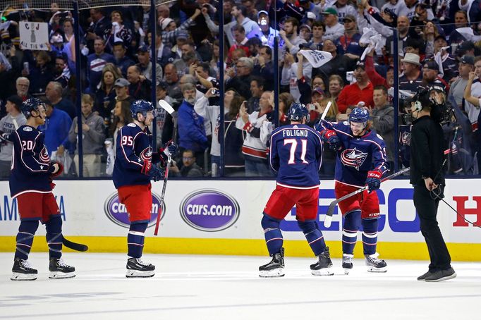
[[[466, 219], [481, 223], [480, 179], [448, 180], [445, 200]], [[145, 252], [176, 254], [264, 255], [260, 226], [274, 180], [171, 180], [166, 190], [165, 210], [159, 236], [153, 224], [160, 208], [162, 183], [153, 183], [152, 221], [146, 231]], [[334, 200], [334, 181], [322, 180], [319, 188], [319, 226], [340, 257], [340, 214], [334, 211], [331, 228], [322, 226], [327, 206]], [[15, 248], [19, 215], [16, 200], [9, 196], [8, 181], [0, 181], [0, 251]], [[116, 190], [109, 180], [58, 180], [54, 190], [63, 217], [63, 234], [83, 242], [91, 252], [125, 252], [127, 214], [116, 201]], [[386, 181], [377, 195], [380, 203], [378, 251], [391, 259], [427, 259], [424, 239], [413, 205], [413, 187], [408, 180]], [[311, 257], [295, 219], [296, 208], [281, 223], [286, 252], [291, 256]], [[453, 259], [481, 261], [481, 229], [468, 226], [454, 211], [439, 204], [439, 226], [449, 243]], [[33, 250], [47, 251], [44, 228], [37, 232]], [[362, 253], [358, 235], [356, 252]]]

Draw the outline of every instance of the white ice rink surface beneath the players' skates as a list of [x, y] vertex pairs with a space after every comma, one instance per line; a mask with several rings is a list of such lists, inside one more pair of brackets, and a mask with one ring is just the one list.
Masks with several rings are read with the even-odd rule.
[[[287, 253], [286, 253], [287, 254]], [[259, 278], [268, 257], [145, 254], [154, 278], [125, 277], [125, 254], [66, 253], [72, 279], [48, 278], [47, 253], [32, 253], [36, 281], [11, 281], [0, 253], [0, 319], [481, 319], [481, 263], [454, 262], [457, 278], [424, 283], [427, 261], [387, 261], [368, 273], [310, 275], [315, 259], [286, 256], [284, 278]]]

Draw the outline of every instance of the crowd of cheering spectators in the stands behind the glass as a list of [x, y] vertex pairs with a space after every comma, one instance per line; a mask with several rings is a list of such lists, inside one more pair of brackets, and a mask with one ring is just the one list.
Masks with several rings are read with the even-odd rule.
[[[329, 121], [346, 121], [353, 106], [370, 111], [373, 128], [386, 141], [392, 170], [396, 160], [400, 167], [408, 166], [410, 97], [434, 89], [453, 106], [452, 121], [444, 125], [451, 150], [449, 173], [477, 174], [477, 1], [276, 0], [274, 6], [274, 1], [225, 0], [220, 8], [212, 0], [178, 0], [150, 8], [149, 0], [139, 0], [137, 6], [82, 10], [79, 21], [55, 2], [51, 10], [25, 10], [24, 1], [11, 1], [0, 21], [0, 131], [13, 132], [12, 119], [19, 125], [25, 122], [19, 113], [21, 102], [39, 97], [47, 106], [42, 130], [50, 156], [68, 164], [66, 174], [78, 174], [81, 117], [83, 176], [108, 176], [109, 157], [115, 156], [109, 148], [115, 150], [118, 128], [132, 121], [130, 103], [150, 101], [155, 87], [157, 99], [178, 111], [177, 123], [164, 111], [154, 123], [157, 144], [171, 140], [178, 130], [181, 152], [173, 176], [217, 176], [224, 156], [226, 176], [265, 177], [272, 174], [267, 164], [269, 134], [275, 125], [288, 123], [288, 106], [294, 101], [306, 104], [314, 125], [330, 102]], [[155, 39], [151, 10], [157, 11]], [[221, 15], [224, 35], [219, 35]], [[48, 50], [20, 47], [19, 25], [25, 20], [49, 24]], [[80, 39], [74, 37], [75, 23]], [[224, 57], [219, 54], [221, 36]], [[76, 41], [80, 56], [75, 54]], [[332, 59], [313, 66], [306, 54], [312, 50], [325, 51]], [[279, 101], [274, 101], [275, 66]], [[220, 70], [224, 83], [219, 82]], [[398, 106], [393, 106], [395, 78]], [[77, 81], [82, 84], [80, 113], [75, 107]], [[224, 97], [219, 97], [221, 86]], [[221, 125], [224, 137], [219, 135]], [[0, 176], [5, 178], [11, 145], [0, 142]], [[326, 150], [319, 176], [332, 176], [334, 164], [335, 154]]]

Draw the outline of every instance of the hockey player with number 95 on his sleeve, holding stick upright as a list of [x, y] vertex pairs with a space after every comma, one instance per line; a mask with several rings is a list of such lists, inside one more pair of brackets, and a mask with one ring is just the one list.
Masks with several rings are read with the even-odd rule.
[[130, 106], [133, 123], [124, 125], [117, 135], [116, 159], [112, 178], [118, 192], [118, 201], [125, 204], [130, 220], [127, 235], [128, 278], [152, 277], [155, 266], [142, 261], [145, 230], [152, 212], [152, 185], [150, 180], [164, 178], [164, 171], [154, 166], [165, 164], [169, 152], [174, 154], [176, 144], [168, 142], [165, 149], [152, 153], [152, 135], [148, 126], [156, 116], [152, 103], [136, 100]]

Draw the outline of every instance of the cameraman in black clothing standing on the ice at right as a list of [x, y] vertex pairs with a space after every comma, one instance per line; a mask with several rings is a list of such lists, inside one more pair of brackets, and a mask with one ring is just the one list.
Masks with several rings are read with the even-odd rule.
[[[444, 97], [436, 90], [422, 91], [411, 102], [413, 128], [410, 141], [410, 183], [431, 263], [418, 281], [444, 281], [456, 277], [451, 256], [437, 223], [439, 200], [444, 197], [444, 135], [437, 118]], [[433, 115], [433, 116], [432, 116]]]

